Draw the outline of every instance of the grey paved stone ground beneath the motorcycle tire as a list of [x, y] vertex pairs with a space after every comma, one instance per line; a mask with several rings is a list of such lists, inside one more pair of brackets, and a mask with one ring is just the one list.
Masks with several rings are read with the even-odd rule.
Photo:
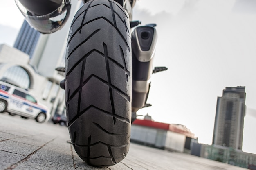
[[0, 170], [242, 170], [237, 166], [131, 143], [115, 166], [88, 166], [67, 143], [67, 127], [0, 113]]

